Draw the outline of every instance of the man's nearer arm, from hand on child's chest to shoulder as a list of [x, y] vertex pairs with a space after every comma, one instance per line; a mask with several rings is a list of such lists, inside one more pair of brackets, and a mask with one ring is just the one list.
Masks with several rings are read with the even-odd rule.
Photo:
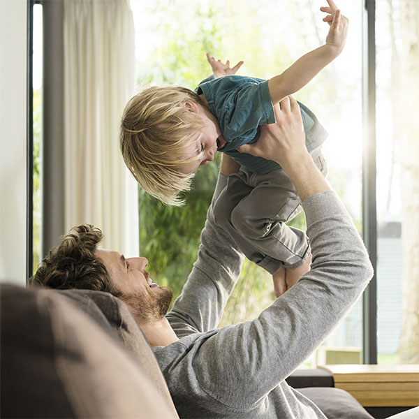
[[206, 377], [200, 385], [208, 394], [216, 389], [235, 409], [256, 409], [348, 314], [372, 278], [351, 217], [307, 152], [296, 101], [284, 99], [275, 112], [277, 123], [262, 127], [258, 141], [240, 151], [273, 159], [294, 182], [313, 260], [311, 270], [258, 318], [222, 328], [200, 346], [194, 364]]

